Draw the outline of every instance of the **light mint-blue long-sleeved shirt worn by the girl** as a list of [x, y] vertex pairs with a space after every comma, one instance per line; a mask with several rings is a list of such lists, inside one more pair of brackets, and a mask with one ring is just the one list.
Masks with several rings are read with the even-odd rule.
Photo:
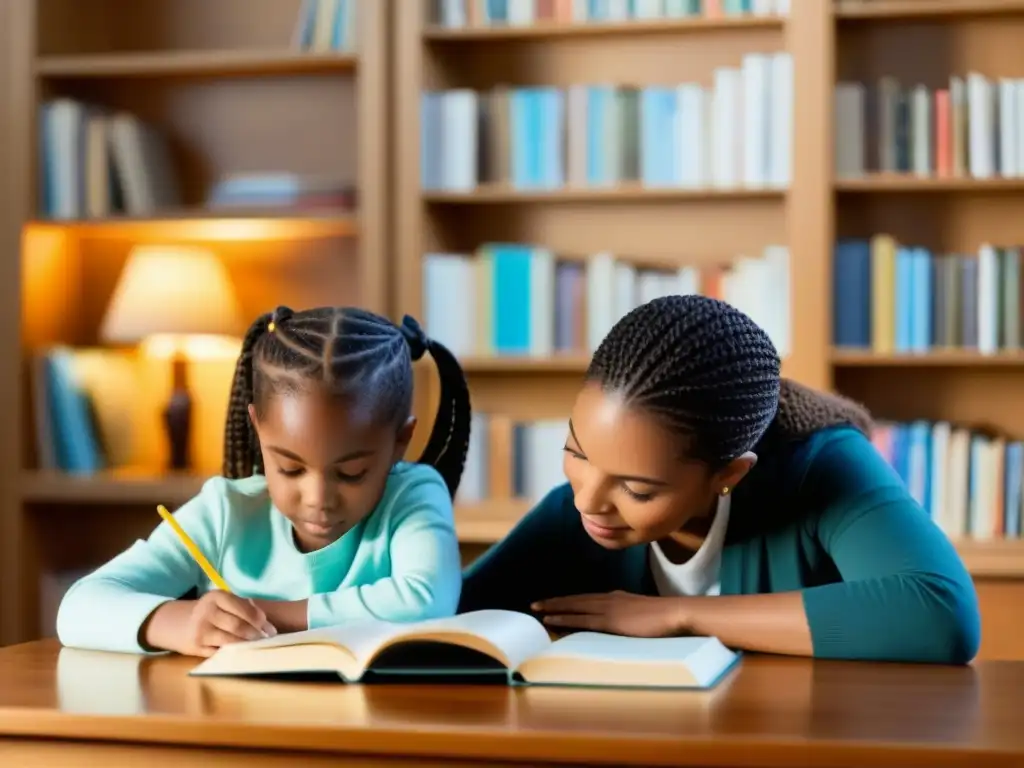
[[[333, 544], [303, 553], [270, 502], [266, 478], [213, 477], [174, 517], [231, 591], [308, 600], [310, 629], [360, 618], [414, 622], [453, 615], [462, 589], [452, 499], [433, 467], [399, 463], [384, 496]], [[139, 630], [161, 604], [212, 589], [166, 522], [76, 582], [57, 612], [63, 645], [145, 652]]]

